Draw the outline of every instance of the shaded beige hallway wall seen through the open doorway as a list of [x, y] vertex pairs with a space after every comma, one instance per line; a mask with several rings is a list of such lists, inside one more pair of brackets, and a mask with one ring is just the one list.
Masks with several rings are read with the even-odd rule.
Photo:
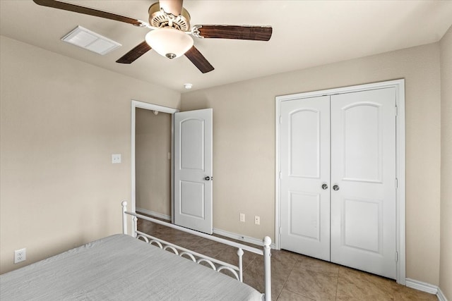
[[136, 108], [135, 132], [136, 208], [171, 216], [171, 114]]

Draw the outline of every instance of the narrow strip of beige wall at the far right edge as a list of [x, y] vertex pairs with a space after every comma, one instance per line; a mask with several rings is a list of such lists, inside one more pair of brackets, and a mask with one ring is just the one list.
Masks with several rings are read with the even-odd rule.
[[441, 39], [441, 257], [439, 288], [452, 300], [452, 27]]

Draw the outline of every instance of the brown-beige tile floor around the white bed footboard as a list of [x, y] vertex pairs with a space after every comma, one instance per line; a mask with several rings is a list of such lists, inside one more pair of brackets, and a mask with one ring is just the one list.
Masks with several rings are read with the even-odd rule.
[[[149, 221], [138, 220], [138, 230], [182, 247], [237, 264], [234, 248]], [[255, 245], [253, 245], [256, 247]], [[263, 292], [261, 256], [245, 252], [244, 282]], [[395, 281], [323, 262], [284, 250], [272, 250], [272, 300], [438, 300], [436, 295], [407, 288]]]

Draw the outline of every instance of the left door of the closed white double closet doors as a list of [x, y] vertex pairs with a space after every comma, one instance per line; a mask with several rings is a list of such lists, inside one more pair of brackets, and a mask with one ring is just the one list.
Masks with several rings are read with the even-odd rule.
[[281, 244], [329, 261], [330, 97], [282, 102], [280, 123]]

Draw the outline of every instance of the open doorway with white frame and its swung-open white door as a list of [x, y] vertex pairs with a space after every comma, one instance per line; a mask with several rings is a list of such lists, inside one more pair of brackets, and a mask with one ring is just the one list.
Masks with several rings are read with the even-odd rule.
[[[179, 226], [211, 234], [213, 231], [212, 109], [179, 113], [177, 109], [133, 100], [131, 113], [132, 211], [138, 211], [137, 202], [143, 204], [143, 202], [149, 202], [149, 200], [152, 202], [152, 199], [157, 198], [156, 204], [152, 204], [152, 206], [164, 207], [164, 210], [168, 210], [170, 206], [171, 216], [152, 209], [139, 208], [140, 211], [150, 216], [171, 220], [172, 223]], [[162, 125], [164, 124], [166, 127], [169, 122], [171, 128], [170, 130], [161, 129], [166, 134], [162, 134], [165, 137], [159, 138], [158, 141], [166, 146], [153, 145], [147, 149], [149, 145], [155, 144], [155, 137], [161, 134], [159, 133], [160, 128], [149, 130], [142, 127], [160, 126], [159, 118], [154, 117], [164, 113], [167, 113], [168, 116], [162, 118], [165, 120]], [[152, 114], [155, 116], [153, 117]], [[139, 120], [141, 117], [144, 120]], [[169, 142], [166, 136], [170, 137]], [[169, 144], [171, 145], [170, 152], [168, 152]], [[137, 151], [137, 146], [145, 148]], [[157, 153], [146, 154], [151, 149], [157, 149]], [[137, 166], [138, 160], [141, 160], [139, 164], [144, 166]], [[154, 164], [149, 164], [149, 161], [154, 161]], [[159, 161], [159, 163], [156, 164], [155, 161]], [[170, 161], [169, 171], [168, 161]], [[165, 171], [159, 171], [157, 166], [162, 166]], [[149, 170], [146, 170], [147, 167]], [[143, 176], [143, 178], [137, 179], [137, 176]], [[157, 179], [155, 183], [149, 183], [149, 180], [153, 178]], [[143, 183], [144, 187], [138, 188], [138, 183]], [[163, 184], [165, 187], [158, 187], [159, 183], [165, 183]], [[169, 190], [168, 183], [170, 183]], [[161, 192], [160, 201], [158, 194], [155, 195], [157, 192], [155, 190]], [[171, 195], [169, 204], [167, 202], [168, 195]], [[143, 199], [138, 199], [138, 197], [143, 197]]]

